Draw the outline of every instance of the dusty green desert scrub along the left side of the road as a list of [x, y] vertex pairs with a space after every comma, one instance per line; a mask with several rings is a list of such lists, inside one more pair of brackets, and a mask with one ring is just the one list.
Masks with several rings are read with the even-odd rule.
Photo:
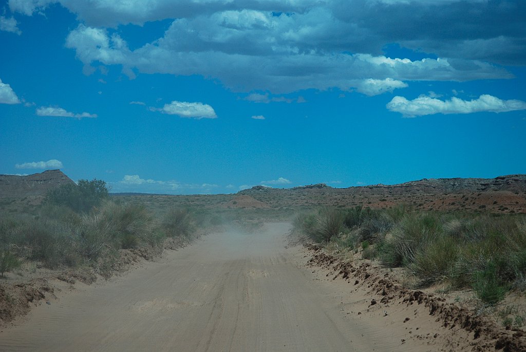
[[[48, 268], [99, 268], [122, 249], [160, 254], [168, 237], [188, 242], [197, 230], [187, 209], [174, 208], [159, 216], [137, 202], [114, 202], [103, 182], [79, 184], [84, 188], [67, 185], [50, 192], [36, 214], [0, 214], [2, 276], [21, 261]], [[73, 201], [74, 197], [80, 199]]]

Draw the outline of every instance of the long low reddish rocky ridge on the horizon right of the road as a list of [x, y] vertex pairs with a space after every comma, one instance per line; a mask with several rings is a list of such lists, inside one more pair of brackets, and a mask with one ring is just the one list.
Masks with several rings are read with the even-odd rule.
[[315, 184], [294, 188], [261, 186], [241, 190], [271, 207], [330, 206], [387, 208], [407, 204], [413, 209], [526, 213], [526, 175], [495, 178], [424, 178], [397, 185], [332, 188]]

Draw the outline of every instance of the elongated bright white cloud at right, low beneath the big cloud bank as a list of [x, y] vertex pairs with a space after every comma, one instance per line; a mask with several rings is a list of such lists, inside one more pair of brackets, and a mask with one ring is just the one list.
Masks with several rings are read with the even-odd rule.
[[420, 96], [408, 100], [396, 96], [387, 104], [387, 108], [402, 113], [404, 117], [415, 117], [432, 114], [471, 114], [478, 112], [503, 113], [513, 110], [526, 110], [526, 102], [522, 100], [502, 100], [489, 94], [483, 94], [478, 99], [462, 100], [452, 97], [440, 100], [429, 96]]

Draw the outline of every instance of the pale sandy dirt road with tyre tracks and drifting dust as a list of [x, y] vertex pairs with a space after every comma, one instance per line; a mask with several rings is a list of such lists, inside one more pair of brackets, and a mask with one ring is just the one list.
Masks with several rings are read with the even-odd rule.
[[386, 329], [342, 313], [331, 286], [298, 268], [289, 228], [212, 234], [65, 295], [4, 329], [0, 350], [407, 350]]

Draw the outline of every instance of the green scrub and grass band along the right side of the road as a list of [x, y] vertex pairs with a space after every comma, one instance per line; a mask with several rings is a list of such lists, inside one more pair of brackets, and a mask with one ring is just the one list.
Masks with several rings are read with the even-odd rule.
[[[296, 216], [294, 232], [315, 242], [346, 244], [387, 267], [404, 267], [420, 286], [471, 288], [495, 305], [526, 289], [526, 216], [382, 210], [357, 206]], [[326, 235], [327, 234], [327, 235]]]

